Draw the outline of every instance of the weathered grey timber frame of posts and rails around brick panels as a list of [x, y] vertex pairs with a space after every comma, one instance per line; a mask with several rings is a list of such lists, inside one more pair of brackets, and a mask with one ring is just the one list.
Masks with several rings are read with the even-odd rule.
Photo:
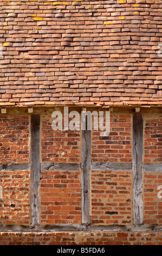
[[[161, 107], [140, 108], [140, 112], [135, 111], [135, 106], [116, 107], [113, 113], [131, 113], [133, 117], [133, 152], [132, 163], [106, 163], [91, 161], [91, 134], [90, 131], [82, 131], [82, 161], [80, 164], [75, 163], [41, 163], [40, 162], [40, 115], [51, 114], [58, 107], [34, 107], [31, 115], [31, 162], [17, 164], [0, 164], [2, 170], [29, 170], [31, 172], [31, 218], [30, 226], [23, 225], [0, 225], [0, 231], [80, 231], [80, 230], [114, 230], [114, 231], [162, 231], [160, 225], [143, 224], [142, 218], [142, 174], [143, 172], [162, 172], [161, 163], [143, 162], [143, 115], [147, 113], [161, 113]], [[73, 109], [73, 108], [72, 108]], [[76, 107], [81, 111], [80, 107]], [[98, 108], [104, 109], [104, 108]], [[94, 108], [89, 107], [89, 110]], [[106, 108], [108, 111], [109, 108]], [[28, 108], [7, 108], [7, 114], [27, 113]], [[28, 113], [29, 114], [29, 113]], [[39, 224], [39, 206], [40, 206], [40, 174], [43, 170], [80, 170], [81, 171], [81, 198], [82, 198], [82, 224], [70, 225], [40, 225]], [[133, 173], [133, 225], [98, 225], [91, 224], [90, 217], [90, 170], [131, 170]]]

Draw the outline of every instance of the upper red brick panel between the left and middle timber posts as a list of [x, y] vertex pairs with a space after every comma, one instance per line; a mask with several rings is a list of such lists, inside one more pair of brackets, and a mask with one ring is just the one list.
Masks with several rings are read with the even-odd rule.
[[80, 131], [54, 131], [51, 115], [42, 117], [42, 162], [81, 161], [81, 133]]

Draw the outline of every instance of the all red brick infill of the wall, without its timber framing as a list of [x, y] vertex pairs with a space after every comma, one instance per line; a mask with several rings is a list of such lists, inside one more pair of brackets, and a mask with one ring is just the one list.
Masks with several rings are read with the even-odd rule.
[[[161, 114], [144, 114], [144, 164], [161, 163]], [[30, 119], [28, 115], [1, 115], [0, 163], [30, 162]], [[41, 162], [81, 163], [81, 131], [53, 131], [51, 115], [41, 115]], [[92, 131], [92, 162], [132, 162], [132, 114], [111, 114], [111, 132], [108, 137]], [[162, 201], [158, 186], [162, 185], [160, 172], [143, 173], [144, 224], [162, 224]], [[0, 224], [31, 224], [30, 171], [2, 170], [0, 186]], [[133, 224], [133, 172], [131, 170], [91, 170], [90, 216], [92, 225]], [[81, 224], [81, 172], [77, 170], [43, 170], [40, 181], [40, 224]], [[75, 236], [76, 234], [74, 234]], [[139, 233], [139, 236], [141, 233]], [[21, 237], [21, 236], [20, 236]], [[43, 236], [42, 236], [43, 237]], [[60, 237], [60, 236], [59, 236]], [[65, 236], [63, 239], [65, 243]], [[97, 240], [87, 236], [86, 242]], [[103, 237], [106, 237], [103, 239]], [[157, 235], [138, 240], [133, 234], [114, 233], [113, 240], [105, 235], [101, 243], [160, 243]], [[108, 237], [108, 239], [107, 239]], [[125, 237], [125, 238], [124, 238]], [[74, 237], [73, 237], [74, 238]], [[122, 239], [122, 241], [120, 239]], [[148, 237], [147, 237], [148, 238]], [[57, 244], [58, 237], [49, 243]], [[102, 240], [103, 239], [103, 240]], [[9, 242], [9, 238], [6, 243]], [[1, 240], [0, 240], [1, 241]], [[24, 240], [9, 243], [30, 243]], [[75, 243], [75, 240], [72, 240]], [[82, 243], [83, 241], [79, 241]], [[0, 242], [1, 243], [1, 242]], [[5, 243], [5, 240], [2, 241]], [[33, 240], [35, 243], [35, 240]], [[42, 241], [39, 243], [43, 243]], [[45, 242], [46, 243], [46, 242]], [[47, 242], [48, 243], [48, 242]], [[70, 242], [69, 242], [70, 244]]]

